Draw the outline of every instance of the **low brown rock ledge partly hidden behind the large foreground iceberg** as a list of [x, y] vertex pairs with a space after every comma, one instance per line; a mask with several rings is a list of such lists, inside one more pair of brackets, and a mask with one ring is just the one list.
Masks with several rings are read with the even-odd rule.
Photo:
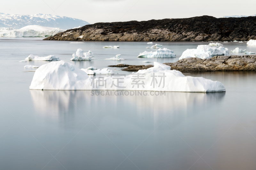
[[[214, 56], [208, 59], [185, 58], [175, 63], [164, 63], [171, 70], [183, 71], [256, 71], [256, 55]], [[127, 67], [124, 71], [138, 71], [153, 67], [153, 65], [124, 65], [109, 67]]]

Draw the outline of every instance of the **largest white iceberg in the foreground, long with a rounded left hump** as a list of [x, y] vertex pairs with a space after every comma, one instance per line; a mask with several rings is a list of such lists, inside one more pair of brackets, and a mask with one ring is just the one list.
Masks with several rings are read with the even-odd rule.
[[72, 63], [57, 61], [40, 66], [35, 71], [29, 89], [225, 92], [224, 85], [219, 81], [202, 77], [186, 77], [180, 71], [170, 70], [170, 68], [154, 62], [154, 67], [139, 70], [128, 76], [102, 75], [92, 78]]

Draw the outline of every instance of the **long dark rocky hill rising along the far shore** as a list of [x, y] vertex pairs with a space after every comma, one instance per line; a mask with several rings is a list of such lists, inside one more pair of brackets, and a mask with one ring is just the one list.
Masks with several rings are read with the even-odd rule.
[[70, 29], [44, 40], [62, 41], [248, 41], [256, 40], [256, 17], [201, 16], [96, 23]]

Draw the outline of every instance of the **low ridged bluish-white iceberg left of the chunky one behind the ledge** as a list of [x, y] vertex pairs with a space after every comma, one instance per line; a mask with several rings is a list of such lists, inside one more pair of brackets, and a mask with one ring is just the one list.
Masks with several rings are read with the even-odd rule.
[[144, 51], [143, 53], [140, 53], [138, 57], [144, 57], [144, 58], [165, 58], [165, 57], [176, 57], [176, 54], [173, 54], [172, 50], [169, 50], [167, 48], [159, 48], [155, 52], [148, 52]]

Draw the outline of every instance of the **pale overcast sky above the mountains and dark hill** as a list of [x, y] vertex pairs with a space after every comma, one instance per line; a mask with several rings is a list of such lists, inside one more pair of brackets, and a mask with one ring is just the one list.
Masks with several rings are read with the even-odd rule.
[[256, 0], [2, 0], [0, 12], [52, 14], [96, 22], [254, 15]]

